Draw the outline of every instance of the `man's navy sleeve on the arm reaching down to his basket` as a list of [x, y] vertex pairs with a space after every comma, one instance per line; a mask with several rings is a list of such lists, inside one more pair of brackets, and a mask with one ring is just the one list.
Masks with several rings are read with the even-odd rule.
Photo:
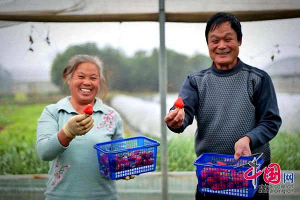
[[277, 134], [281, 125], [275, 89], [267, 73], [254, 89], [253, 104], [257, 125], [244, 135], [251, 140], [250, 148], [267, 143]]

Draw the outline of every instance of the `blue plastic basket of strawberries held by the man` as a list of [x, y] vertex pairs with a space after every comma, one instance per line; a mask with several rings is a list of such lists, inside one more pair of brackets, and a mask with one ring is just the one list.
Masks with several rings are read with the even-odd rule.
[[[258, 188], [259, 176], [256, 179], [256, 188], [252, 180], [243, 177], [244, 172], [250, 168], [247, 164], [252, 156], [240, 156], [234, 160], [233, 155], [203, 153], [194, 160], [196, 166], [198, 188], [200, 192], [251, 198]], [[226, 164], [226, 165], [221, 165]], [[240, 166], [246, 164], [244, 166]], [[261, 158], [257, 159], [259, 170], [263, 164]], [[239, 167], [236, 167], [239, 166]], [[248, 175], [252, 175], [252, 172]]]

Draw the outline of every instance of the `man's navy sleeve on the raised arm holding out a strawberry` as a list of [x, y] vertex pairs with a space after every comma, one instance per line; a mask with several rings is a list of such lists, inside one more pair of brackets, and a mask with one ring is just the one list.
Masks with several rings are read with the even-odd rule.
[[[179, 128], [171, 128], [167, 126], [173, 132], [183, 132], [183, 130], [192, 123], [195, 109], [198, 104], [198, 94], [197, 94], [197, 87], [192, 77], [190, 75], [183, 81], [179, 96], [181, 96], [183, 103], [184, 103], [184, 121], [183, 124]], [[175, 107], [171, 107], [171, 109], [175, 109]]]

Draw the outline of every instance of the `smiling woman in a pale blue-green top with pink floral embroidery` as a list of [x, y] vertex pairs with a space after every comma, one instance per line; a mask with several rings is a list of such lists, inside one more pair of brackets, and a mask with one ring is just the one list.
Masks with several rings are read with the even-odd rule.
[[[115, 181], [99, 173], [93, 148], [124, 137], [119, 114], [95, 97], [106, 93], [102, 64], [96, 56], [75, 55], [63, 77], [71, 96], [47, 105], [37, 122], [36, 151], [50, 166], [45, 197], [118, 199]], [[91, 116], [83, 113], [87, 104], [93, 105]]]

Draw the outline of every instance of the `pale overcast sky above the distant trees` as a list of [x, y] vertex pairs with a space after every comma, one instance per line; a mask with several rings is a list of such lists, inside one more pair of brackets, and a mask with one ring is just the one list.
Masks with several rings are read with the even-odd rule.
[[[166, 47], [186, 55], [208, 55], [205, 23], [166, 23]], [[300, 18], [242, 22], [242, 45], [239, 57], [246, 63], [265, 68], [288, 56], [300, 56]], [[49, 36], [50, 45], [45, 41]], [[32, 36], [33, 52], [29, 35]], [[150, 51], [159, 46], [157, 22], [27, 22], [0, 28], [0, 64], [14, 79], [49, 80], [51, 62], [67, 46], [95, 42], [99, 47], [111, 45], [127, 55], [136, 50]], [[278, 47], [275, 45], [278, 44]], [[279, 50], [279, 53], [278, 53]]]

